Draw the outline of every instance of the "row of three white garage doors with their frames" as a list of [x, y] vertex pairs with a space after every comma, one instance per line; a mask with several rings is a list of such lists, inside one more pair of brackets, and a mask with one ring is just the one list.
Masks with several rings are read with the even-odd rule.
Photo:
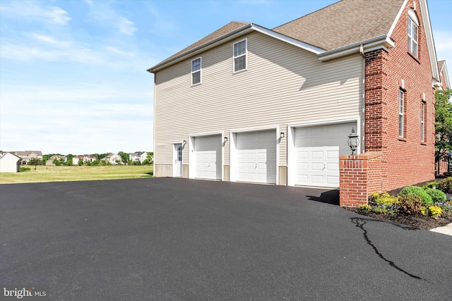
[[278, 166], [285, 166], [279, 154], [287, 143], [287, 185], [338, 188], [339, 156], [350, 153], [352, 128], [359, 130], [357, 120], [289, 125], [287, 134], [273, 128], [190, 136], [189, 178], [225, 180], [226, 173], [226, 180], [285, 185]]

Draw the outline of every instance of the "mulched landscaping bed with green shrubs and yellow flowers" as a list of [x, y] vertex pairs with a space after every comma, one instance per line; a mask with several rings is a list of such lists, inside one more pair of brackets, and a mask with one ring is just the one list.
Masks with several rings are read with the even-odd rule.
[[[435, 192], [432, 189], [439, 191]], [[439, 199], [443, 197], [440, 191], [444, 192], [445, 200]], [[425, 192], [433, 197], [426, 197]], [[369, 205], [347, 209], [374, 219], [401, 223], [415, 228], [429, 230], [446, 226], [452, 223], [452, 177], [420, 183], [415, 188], [411, 186], [388, 193], [375, 192], [369, 198]]]

